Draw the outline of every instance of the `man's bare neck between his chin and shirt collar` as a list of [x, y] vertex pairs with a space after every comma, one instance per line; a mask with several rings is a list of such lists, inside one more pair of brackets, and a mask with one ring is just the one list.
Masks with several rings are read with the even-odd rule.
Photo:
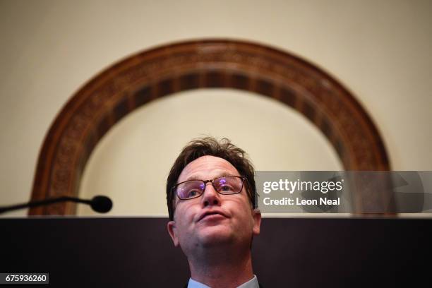
[[191, 278], [212, 288], [238, 287], [253, 278], [251, 250], [205, 249], [188, 257]]

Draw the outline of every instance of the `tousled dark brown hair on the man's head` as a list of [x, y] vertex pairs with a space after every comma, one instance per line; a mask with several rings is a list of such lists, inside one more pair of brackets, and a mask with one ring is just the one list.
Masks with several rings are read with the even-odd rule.
[[[218, 141], [212, 137], [199, 138], [192, 140], [181, 150], [179, 157], [172, 165], [167, 178], [167, 205], [169, 220], [174, 219], [174, 193], [172, 187], [177, 184], [177, 180], [184, 167], [193, 160], [202, 156], [215, 156], [227, 160], [234, 166], [241, 176], [246, 177], [246, 191], [253, 208], [256, 208], [256, 184], [254, 179], [255, 169], [248, 160], [246, 152], [232, 144], [227, 138]], [[205, 179], [206, 180], [206, 179]]]

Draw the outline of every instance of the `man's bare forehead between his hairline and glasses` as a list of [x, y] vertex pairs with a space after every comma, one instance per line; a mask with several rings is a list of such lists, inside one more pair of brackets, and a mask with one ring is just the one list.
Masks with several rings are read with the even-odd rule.
[[209, 180], [224, 175], [240, 176], [237, 169], [227, 160], [215, 156], [202, 156], [184, 167], [178, 182], [191, 179]]

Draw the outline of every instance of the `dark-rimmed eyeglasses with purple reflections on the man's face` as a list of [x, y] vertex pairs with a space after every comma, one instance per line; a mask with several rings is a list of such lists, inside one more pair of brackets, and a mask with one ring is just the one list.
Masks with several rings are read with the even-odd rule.
[[217, 193], [222, 195], [237, 194], [243, 189], [245, 180], [246, 177], [243, 176], [222, 176], [205, 181], [189, 180], [176, 184], [176, 186], [172, 187], [172, 191], [174, 191], [181, 200], [198, 198], [203, 195], [205, 187], [207, 187], [207, 184], [210, 182]]

